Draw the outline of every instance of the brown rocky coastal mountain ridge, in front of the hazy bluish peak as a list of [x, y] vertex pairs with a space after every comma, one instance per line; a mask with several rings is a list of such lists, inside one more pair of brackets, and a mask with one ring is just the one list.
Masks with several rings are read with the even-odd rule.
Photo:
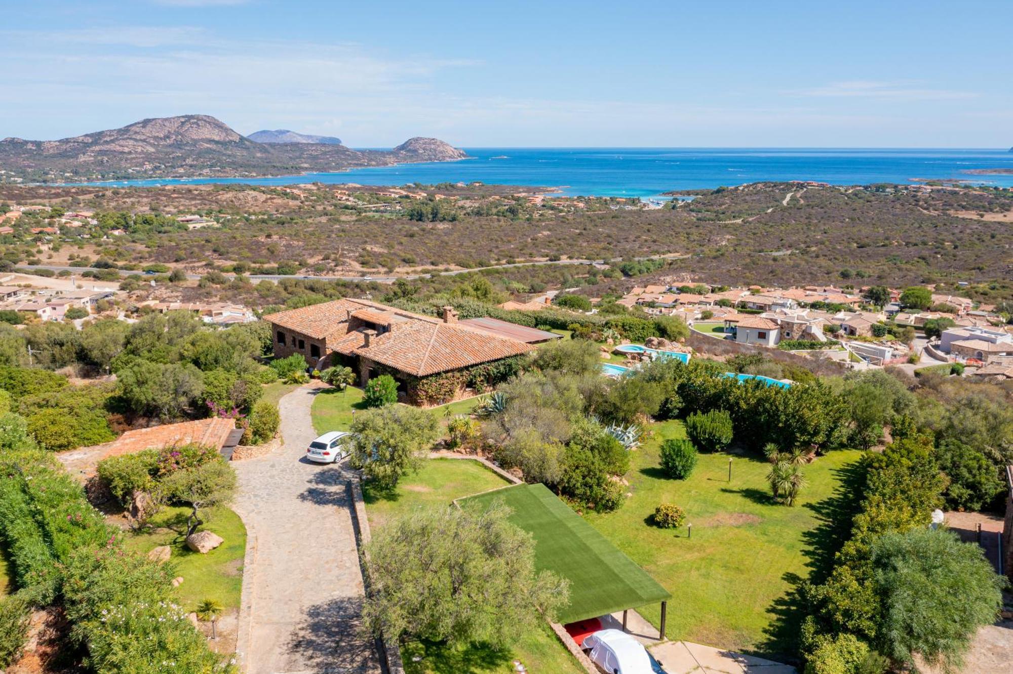
[[36, 182], [252, 177], [466, 156], [443, 141], [423, 138], [391, 151], [358, 151], [328, 143], [258, 143], [206, 114], [142, 119], [60, 141], [0, 141], [0, 166], [7, 174]]

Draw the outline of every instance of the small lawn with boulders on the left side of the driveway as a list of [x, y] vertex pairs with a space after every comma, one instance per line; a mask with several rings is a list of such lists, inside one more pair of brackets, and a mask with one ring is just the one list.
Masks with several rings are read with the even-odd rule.
[[243, 556], [246, 554], [246, 527], [239, 515], [228, 508], [216, 508], [206, 518], [202, 529], [214, 531], [225, 539], [221, 545], [206, 555], [193, 553], [183, 541], [186, 514], [189, 508], [164, 508], [151, 518], [151, 528], [144, 533], [127, 536], [127, 546], [148, 553], [158, 545], [171, 545], [169, 563], [175, 575], [182, 576], [177, 588], [180, 604], [187, 611], [196, 608], [203, 599], [215, 599], [226, 610], [239, 608], [243, 584]]

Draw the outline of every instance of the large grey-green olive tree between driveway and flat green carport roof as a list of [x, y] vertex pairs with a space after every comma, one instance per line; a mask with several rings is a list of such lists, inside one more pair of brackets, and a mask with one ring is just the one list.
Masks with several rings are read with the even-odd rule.
[[551, 619], [567, 581], [535, 570], [534, 541], [509, 512], [437, 508], [384, 525], [366, 549], [366, 627], [389, 640], [510, 644]]

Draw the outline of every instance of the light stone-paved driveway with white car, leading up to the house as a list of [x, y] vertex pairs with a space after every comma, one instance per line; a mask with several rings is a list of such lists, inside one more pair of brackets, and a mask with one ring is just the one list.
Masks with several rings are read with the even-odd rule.
[[284, 444], [236, 461], [248, 531], [237, 653], [250, 674], [380, 672], [358, 635], [363, 576], [343, 470], [303, 455], [316, 383], [285, 396]]

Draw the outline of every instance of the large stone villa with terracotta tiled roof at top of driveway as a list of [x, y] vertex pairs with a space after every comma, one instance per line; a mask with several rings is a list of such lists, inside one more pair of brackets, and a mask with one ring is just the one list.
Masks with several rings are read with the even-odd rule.
[[516, 368], [493, 363], [534, 348], [464, 325], [450, 307], [435, 318], [368, 300], [337, 300], [264, 320], [274, 326], [277, 357], [300, 353], [316, 369], [347, 365], [364, 386], [371, 376], [391, 374], [407, 401], [420, 405], [450, 402], [468, 388], [484, 389], [505, 378]]

